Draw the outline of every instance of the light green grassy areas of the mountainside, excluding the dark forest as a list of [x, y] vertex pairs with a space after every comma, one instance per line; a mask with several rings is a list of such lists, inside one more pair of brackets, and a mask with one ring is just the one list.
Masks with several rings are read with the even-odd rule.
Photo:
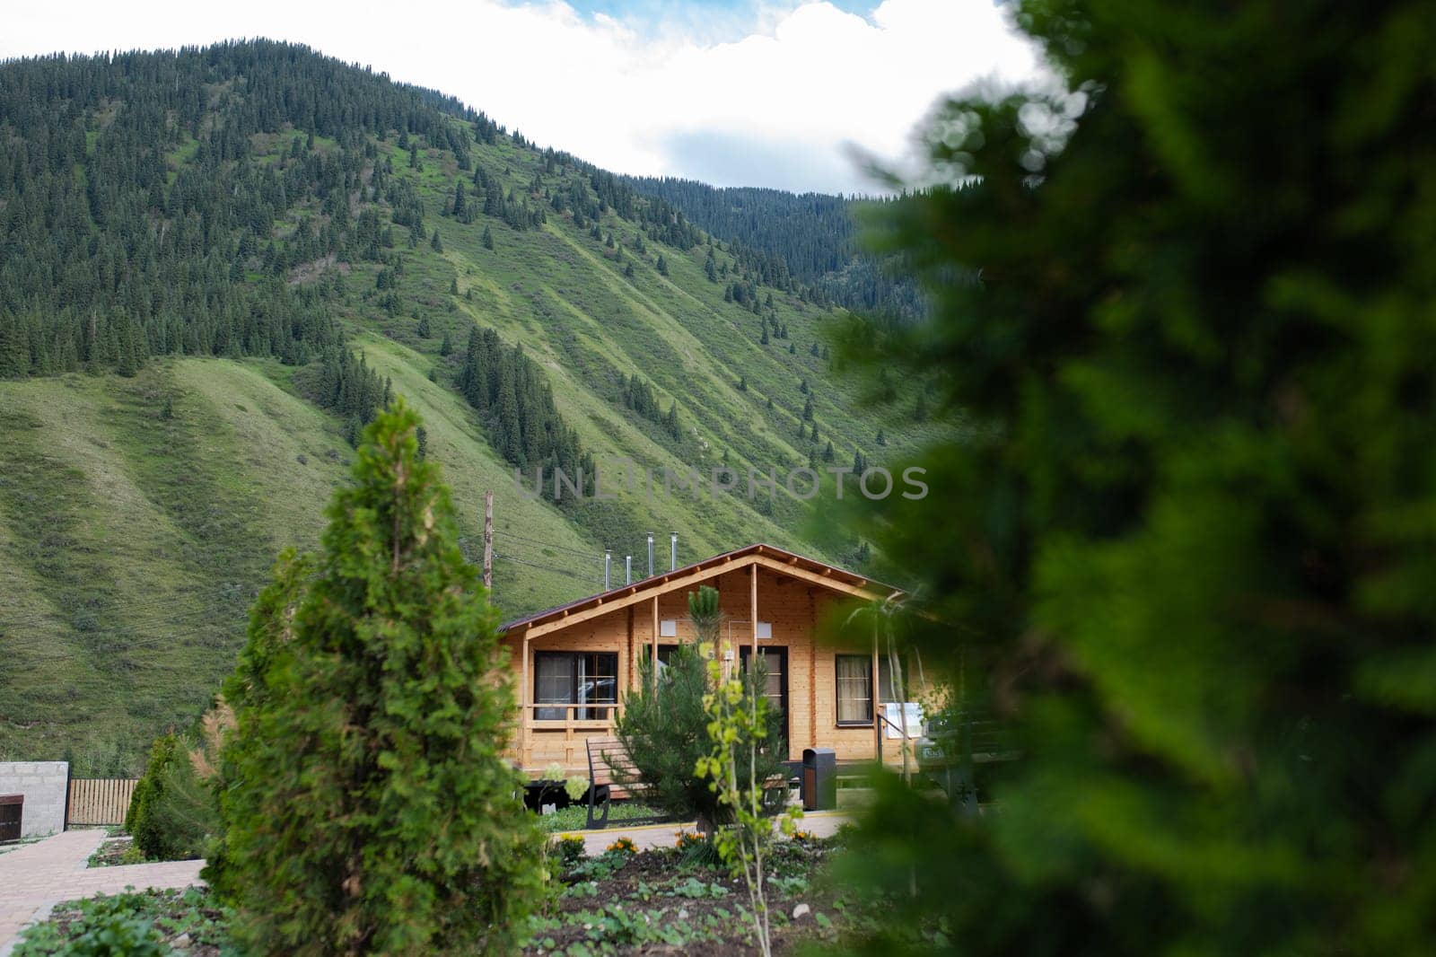
[[[662, 494], [665, 466], [705, 476], [722, 463], [740, 473], [771, 467], [781, 486], [784, 471], [810, 456], [827, 464], [829, 443], [836, 464], [850, 464], [856, 451], [882, 461], [922, 441], [925, 425], [913, 421], [877, 444], [872, 397], [823, 358], [834, 315], [796, 285], [761, 282], [721, 243], [665, 243], [652, 224], [645, 231], [606, 204], [589, 205], [596, 216], [586, 217], [560, 210], [551, 197], [586, 195], [592, 168], [514, 137], [485, 141], [461, 115], [445, 122], [471, 138], [468, 170], [432, 135], [412, 137], [412, 161], [398, 131], [362, 137], [350, 221], [376, 214], [389, 243], [378, 254], [297, 263], [283, 277], [294, 293], [320, 290], [349, 348], [418, 407], [475, 560], [484, 491], [494, 490], [495, 604], [523, 614], [595, 592], [603, 549], [615, 552], [617, 576], [625, 553], [639, 570], [649, 530], [661, 563], [669, 532], [679, 535], [682, 562], [754, 540], [852, 562], [856, 542], [824, 553], [804, 540], [811, 509], [781, 489], [751, 500], [741, 490]], [[250, 155], [293, 174], [296, 164], [339, 154], [333, 138], [310, 132], [281, 124], [250, 137]], [[200, 152], [190, 134], [177, 139], [167, 154], [172, 181]], [[500, 216], [448, 216], [455, 184], [472, 182], [475, 170], [494, 195], [543, 208], [546, 221], [516, 228]], [[414, 187], [422, 231], [396, 223], [385, 197], [363, 188], [379, 171], [391, 185]], [[270, 237], [323, 230], [332, 201], [293, 203]], [[257, 256], [237, 260], [231, 276], [260, 282]], [[728, 299], [734, 283], [757, 289], [765, 320]], [[497, 330], [537, 362], [615, 500], [518, 493], [494, 422], [457, 388], [475, 328]], [[441, 355], [445, 339], [451, 351]], [[626, 408], [632, 374], [652, 384], [661, 410], [676, 404], [676, 435]], [[346, 422], [316, 404], [316, 376], [277, 358], [168, 356], [132, 376], [96, 365], [0, 382], [0, 547], [9, 559], [0, 563], [0, 756], [69, 752], [80, 773], [122, 772], [157, 731], [198, 714], [231, 667], [273, 556], [316, 545], [325, 503], [345, 481]], [[899, 402], [916, 401], [903, 384], [885, 388]], [[811, 425], [798, 437], [807, 404], [817, 441]], [[615, 481], [623, 460], [658, 473], [655, 494]]]

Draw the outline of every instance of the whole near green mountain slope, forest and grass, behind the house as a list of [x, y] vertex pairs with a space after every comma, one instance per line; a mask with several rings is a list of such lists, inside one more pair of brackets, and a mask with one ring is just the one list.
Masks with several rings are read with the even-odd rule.
[[[507, 614], [597, 591], [605, 549], [642, 570], [649, 530], [661, 566], [668, 532], [684, 562], [768, 540], [853, 563], [784, 470], [923, 440], [913, 415], [877, 444], [801, 283], [455, 101], [261, 42], [0, 65], [0, 754], [123, 770], [192, 720], [274, 553], [314, 543], [346, 480], [362, 376], [424, 415], [475, 560], [495, 493]], [[557, 420], [465, 399], [481, 329]], [[523, 494], [516, 422], [572, 430], [613, 497]], [[549, 461], [520, 463], [530, 489]], [[778, 470], [778, 494], [663, 494], [665, 467], [724, 463]], [[652, 494], [622, 481], [645, 468]]]

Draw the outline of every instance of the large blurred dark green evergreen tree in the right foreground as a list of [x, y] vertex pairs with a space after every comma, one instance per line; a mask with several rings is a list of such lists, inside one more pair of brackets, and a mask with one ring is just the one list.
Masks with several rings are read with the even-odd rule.
[[872, 950], [1426, 951], [1429, 4], [1015, 16], [1070, 92], [939, 111], [933, 174], [964, 185], [886, 230], [931, 319], [849, 355], [954, 425], [915, 463], [932, 494], [864, 529], [922, 585], [923, 665], [1021, 757], [995, 813], [873, 808]]

